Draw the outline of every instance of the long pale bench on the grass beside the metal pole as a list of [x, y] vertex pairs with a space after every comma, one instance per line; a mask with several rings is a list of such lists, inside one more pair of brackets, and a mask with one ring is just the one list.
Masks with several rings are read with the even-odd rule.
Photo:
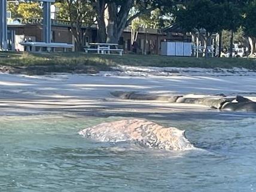
[[51, 48], [53, 52], [55, 51], [55, 48], [63, 48], [63, 51], [66, 52], [67, 48], [74, 47], [73, 44], [67, 44], [67, 43], [59, 43], [59, 42], [33, 42], [33, 41], [27, 41], [27, 42], [20, 42], [21, 45], [25, 47], [25, 51], [32, 51], [32, 47], [39, 47], [39, 52], [42, 51], [42, 47], [46, 47], [47, 51], [50, 52]]

